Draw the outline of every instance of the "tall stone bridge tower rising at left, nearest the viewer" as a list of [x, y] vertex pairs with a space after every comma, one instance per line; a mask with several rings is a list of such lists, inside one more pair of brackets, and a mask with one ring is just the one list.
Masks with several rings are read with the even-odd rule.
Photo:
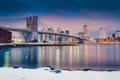
[[27, 42], [38, 42], [38, 16], [30, 16], [26, 18], [26, 28], [32, 31], [29, 34]]

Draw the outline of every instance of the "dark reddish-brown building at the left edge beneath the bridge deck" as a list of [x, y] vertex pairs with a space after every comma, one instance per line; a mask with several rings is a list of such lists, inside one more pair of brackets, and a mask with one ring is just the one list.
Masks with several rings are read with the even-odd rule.
[[0, 28], [0, 43], [10, 43], [12, 38], [12, 33]]

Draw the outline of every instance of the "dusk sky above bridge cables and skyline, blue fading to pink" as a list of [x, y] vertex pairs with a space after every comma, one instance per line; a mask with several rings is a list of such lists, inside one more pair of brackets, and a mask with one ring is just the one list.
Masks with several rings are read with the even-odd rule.
[[30, 15], [71, 32], [81, 31], [84, 24], [91, 31], [119, 30], [120, 0], [0, 0], [0, 19]]

